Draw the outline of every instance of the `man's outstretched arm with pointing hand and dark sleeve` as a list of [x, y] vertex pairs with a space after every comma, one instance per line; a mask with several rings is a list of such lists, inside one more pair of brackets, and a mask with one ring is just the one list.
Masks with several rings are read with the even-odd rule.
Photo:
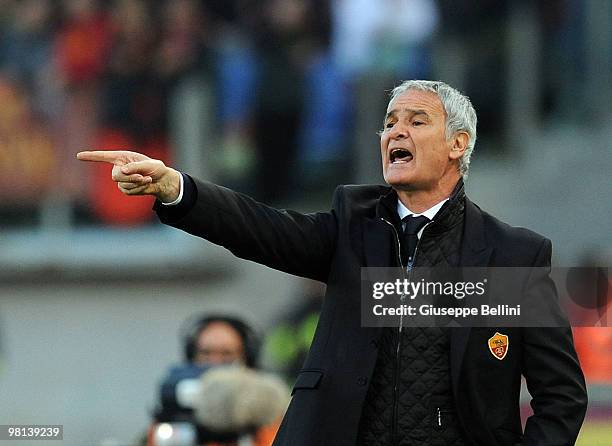
[[[163, 203], [179, 195], [181, 173], [140, 153], [80, 152], [77, 158], [112, 163], [112, 178], [126, 195], [154, 195]], [[189, 205], [156, 205], [163, 223], [224, 246], [238, 257], [327, 280], [337, 236], [334, 212], [278, 210], [221, 186], [184, 177]]]

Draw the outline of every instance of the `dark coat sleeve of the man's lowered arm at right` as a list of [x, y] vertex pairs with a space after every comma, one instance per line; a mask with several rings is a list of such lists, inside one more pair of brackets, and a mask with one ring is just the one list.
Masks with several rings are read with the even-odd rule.
[[[528, 292], [550, 300], [545, 304], [547, 310], [558, 311], [558, 317], [567, 322], [549, 276], [551, 252], [551, 242], [545, 239], [528, 280]], [[522, 371], [532, 396], [533, 415], [527, 419], [521, 445], [574, 445], [586, 413], [587, 392], [569, 324], [525, 328], [523, 346]]]

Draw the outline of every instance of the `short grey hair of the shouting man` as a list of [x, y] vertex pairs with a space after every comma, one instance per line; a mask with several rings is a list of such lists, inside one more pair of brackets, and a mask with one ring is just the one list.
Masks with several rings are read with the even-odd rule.
[[446, 112], [446, 139], [457, 132], [466, 132], [469, 135], [468, 146], [459, 159], [459, 172], [467, 178], [470, 169], [470, 158], [476, 144], [476, 110], [470, 99], [441, 81], [408, 80], [402, 82], [391, 91], [391, 103], [396, 97], [408, 90], [431, 91], [442, 102]]

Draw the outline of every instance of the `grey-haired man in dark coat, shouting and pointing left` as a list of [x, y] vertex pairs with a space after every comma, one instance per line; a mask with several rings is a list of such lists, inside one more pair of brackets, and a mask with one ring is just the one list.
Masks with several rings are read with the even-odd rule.
[[[556, 298], [550, 241], [465, 196], [475, 140], [465, 96], [442, 82], [404, 82], [381, 131], [390, 187], [338, 187], [332, 210], [314, 214], [267, 207], [134, 152], [78, 157], [112, 162], [125, 194], [155, 195], [162, 222], [327, 284], [276, 445], [573, 445], [587, 396], [569, 327], [361, 325], [362, 267], [539, 267], [521, 286]], [[524, 431], [521, 375], [534, 410]]]

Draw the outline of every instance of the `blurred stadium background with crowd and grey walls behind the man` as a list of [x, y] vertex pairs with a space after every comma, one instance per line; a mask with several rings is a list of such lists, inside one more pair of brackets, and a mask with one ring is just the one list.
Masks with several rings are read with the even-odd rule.
[[[1, 0], [0, 423], [131, 444], [182, 322], [211, 310], [268, 333], [290, 381], [284, 324], [321, 292], [162, 227], [77, 151], [325, 209], [336, 184], [381, 181], [386, 91], [407, 78], [471, 97], [474, 201], [551, 238], [558, 266], [611, 264], [606, 0]], [[577, 335], [578, 444], [612, 445], [612, 334]]]

